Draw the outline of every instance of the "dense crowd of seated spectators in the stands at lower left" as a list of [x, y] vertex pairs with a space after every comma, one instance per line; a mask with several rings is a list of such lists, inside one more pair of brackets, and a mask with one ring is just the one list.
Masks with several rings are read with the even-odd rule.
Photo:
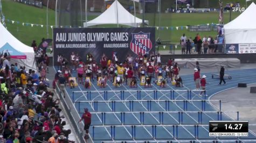
[[10, 64], [7, 53], [0, 65], [0, 142], [72, 142], [68, 140], [71, 130], [64, 130], [59, 100], [49, 91], [45, 77]]

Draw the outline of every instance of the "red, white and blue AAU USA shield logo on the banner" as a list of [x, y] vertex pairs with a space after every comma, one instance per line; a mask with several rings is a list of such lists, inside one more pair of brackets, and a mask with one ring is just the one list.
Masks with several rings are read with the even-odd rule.
[[130, 42], [130, 49], [137, 55], [141, 52], [142, 55], [148, 54], [152, 49], [150, 41], [150, 33], [132, 33], [133, 39]]

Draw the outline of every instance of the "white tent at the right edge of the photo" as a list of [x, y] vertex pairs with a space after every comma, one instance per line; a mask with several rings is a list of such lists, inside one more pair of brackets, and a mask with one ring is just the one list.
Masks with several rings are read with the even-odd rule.
[[256, 5], [252, 3], [236, 19], [224, 25], [226, 43], [256, 43]]

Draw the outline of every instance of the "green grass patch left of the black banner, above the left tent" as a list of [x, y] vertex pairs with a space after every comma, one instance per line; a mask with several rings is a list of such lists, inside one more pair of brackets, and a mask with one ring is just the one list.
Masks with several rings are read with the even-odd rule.
[[[20, 4], [10, 0], [2, 0], [2, 10], [5, 19], [20, 22], [19, 24], [16, 22], [12, 24], [11, 22], [5, 21], [8, 31], [24, 44], [31, 46], [32, 40], [36, 40], [37, 44], [39, 44], [43, 37], [47, 37], [46, 7], [40, 9], [34, 6]], [[31, 27], [31, 25], [23, 26], [22, 22], [44, 25], [44, 27]], [[55, 12], [51, 9], [49, 9], [49, 25], [55, 25]], [[52, 29], [50, 26], [49, 37], [52, 38]]]

